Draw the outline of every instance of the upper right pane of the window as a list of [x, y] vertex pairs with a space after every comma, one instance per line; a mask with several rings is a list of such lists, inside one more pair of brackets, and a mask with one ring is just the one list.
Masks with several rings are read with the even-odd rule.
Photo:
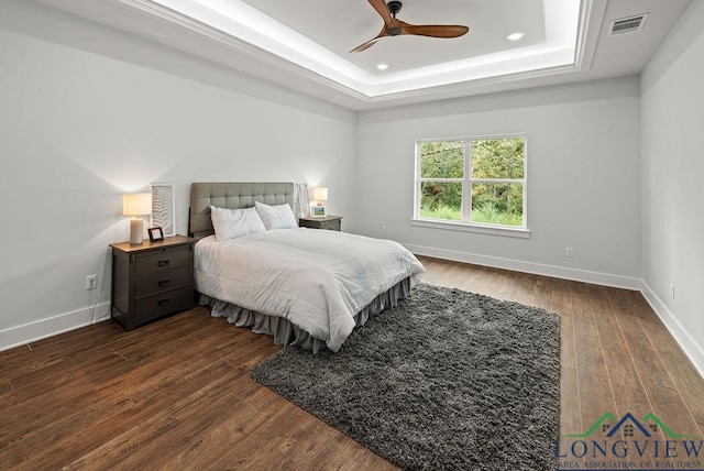
[[472, 141], [472, 178], [524, 177], [524, 138]]

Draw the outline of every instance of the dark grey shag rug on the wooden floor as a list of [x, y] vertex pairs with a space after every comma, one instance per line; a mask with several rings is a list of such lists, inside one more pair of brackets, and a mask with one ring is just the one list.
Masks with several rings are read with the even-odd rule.
[[407, 470], [554, 469], [560, 320], [420, 284], [338, 353], [285, 348], [255, 381]]

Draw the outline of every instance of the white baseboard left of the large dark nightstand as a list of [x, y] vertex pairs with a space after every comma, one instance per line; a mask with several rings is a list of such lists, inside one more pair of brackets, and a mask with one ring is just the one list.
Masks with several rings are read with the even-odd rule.
[[[92, 313], [92, 316], [91, 316]], [[58, 333], [98, 324], [110, 318], [110, 303], [59, 314], [48, 319], [0, 330], [0, 351], [20, 347]]]

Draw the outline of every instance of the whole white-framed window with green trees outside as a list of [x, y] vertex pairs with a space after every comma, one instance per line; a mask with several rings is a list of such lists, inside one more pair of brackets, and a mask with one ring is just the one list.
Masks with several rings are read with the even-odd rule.
[[418, 141], [415, 220], [526, 229], [524, 135]]

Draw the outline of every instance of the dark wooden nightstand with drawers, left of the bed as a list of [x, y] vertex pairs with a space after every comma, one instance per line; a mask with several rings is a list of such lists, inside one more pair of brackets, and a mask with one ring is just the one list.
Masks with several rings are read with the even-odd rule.
[[127, 330], [194, 306], [195, 239], [112, 243], [111, 316]]

